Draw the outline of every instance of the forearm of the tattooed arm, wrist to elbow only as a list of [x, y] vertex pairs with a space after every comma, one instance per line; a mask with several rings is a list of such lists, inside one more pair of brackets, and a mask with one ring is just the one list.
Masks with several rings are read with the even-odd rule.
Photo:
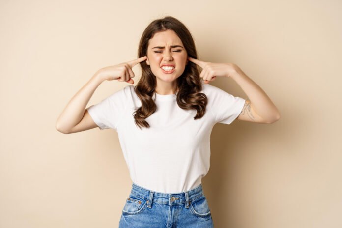
[[256, 113], [270, 122], [278, 120], [280, 118], [280, 113], [262, 88], [236, 65], [235, 71], [236, 72], [231, 74], [230, 77], [234, 79], [234, 81], [240, 85], [242, 90], [246, 93], [251, 101], [251, 106], [253, 106]]

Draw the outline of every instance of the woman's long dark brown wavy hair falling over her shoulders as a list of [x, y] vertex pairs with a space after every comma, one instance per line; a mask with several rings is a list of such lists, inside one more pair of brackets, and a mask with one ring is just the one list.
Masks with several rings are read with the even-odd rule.
[[[156, 32], [168, 29], [173, 30], [178, 35], [183, 42], [188, 56], [197, 59], [195, 42], [190, 31], [183, 23], [172, 16], [154, 20], [145, 28], [139, 43], [138, 57], [147, 55], [149, 39], [151, 39]], [[136, 109], [133, 116], [135, 124], [141, 129], [141, 127], [150, 127], [145, 118], [153, 114], [157, 109], [153, 100], [157, 81], [146, 61], [142, 61], [140, 65], [142, 67], [142, 76], [138, 84], [134, 87], [134, 91], [141, 100], [142, 106]], [[185, 65], [183, 74], [176, 79], [175, 91], [177, 95], [177, 104], [184, 110], [195, 109], [197, 114], [194, 116], [194, 119], [201, 118], [205, 114], [205, 108], [208, 102], [206, 95], [199, 92], [202, 90], [201, 81], [202, 80], [199, 77], [199, 67], [191, 61], [188, 61]]]

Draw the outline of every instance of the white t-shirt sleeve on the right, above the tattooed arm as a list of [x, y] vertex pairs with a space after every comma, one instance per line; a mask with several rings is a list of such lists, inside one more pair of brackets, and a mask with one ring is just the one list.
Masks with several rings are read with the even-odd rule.
[[231, 124], [241, 113], [246, 100], [229, 94], [228, 92], [210, 84], [206, 84], [209, 91], [209, 102], [216, 123]]

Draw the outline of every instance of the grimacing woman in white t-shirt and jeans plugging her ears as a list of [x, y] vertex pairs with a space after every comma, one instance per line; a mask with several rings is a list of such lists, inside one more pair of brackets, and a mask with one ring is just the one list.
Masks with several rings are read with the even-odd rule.
[[[98, 70], [68, 103], [56, 128], [65, 134], [95, 127], [117, 131], [133, 181], [120, 228], [213, 227], [201, 185], [209, 171], [213, 126], [236, 118], [273, 123], [279, 111], [236, 64], [198, 60], [189, 30], [174, 17], [147, 26], [138, 57]], [[133, 84], [138, 63], [142, 76], [136, 86], [85, 109], [103, 81]], [[251, 101], [208, 84], [216, 77], [235, 80]]]

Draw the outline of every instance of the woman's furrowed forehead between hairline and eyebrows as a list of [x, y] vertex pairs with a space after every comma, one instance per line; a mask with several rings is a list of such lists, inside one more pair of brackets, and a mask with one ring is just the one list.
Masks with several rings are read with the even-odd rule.
[[[148, 41], [149, 46], [170, 46], [170, 45], [182, 45], [183, 43], [178, 35], [173, 30], [166, 30], [156, 32], [153, 37]], [[154, 47], [154, 46], [153, 46]]]

